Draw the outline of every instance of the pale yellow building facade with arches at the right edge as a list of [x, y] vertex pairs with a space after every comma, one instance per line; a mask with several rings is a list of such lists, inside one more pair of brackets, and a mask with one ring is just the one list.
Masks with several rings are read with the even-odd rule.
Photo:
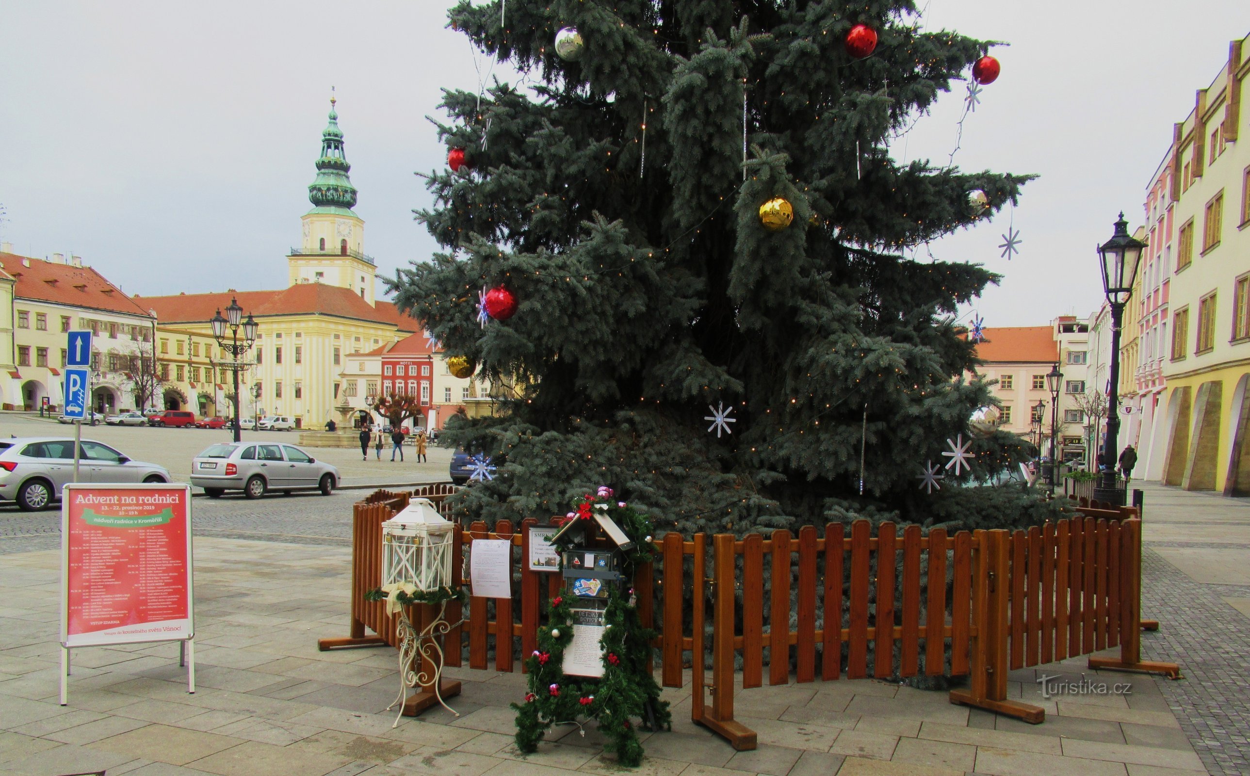
[[[1250, 36], [1175, 125], [1161, 480], [1250, 495]], [[1240, 142], [1239, 142], [1240, 140]]]

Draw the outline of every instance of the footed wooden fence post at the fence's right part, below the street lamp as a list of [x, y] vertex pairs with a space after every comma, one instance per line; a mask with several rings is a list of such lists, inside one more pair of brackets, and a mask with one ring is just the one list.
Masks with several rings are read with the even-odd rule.
[[[968, 690], [951, 690], [950, 702], [976, 706], [996, 714], [1040, 724], [1046, 712], [1040, 706], [1008, 700], [1008, 599], [1011, 594], [1009, 557], [1012, 536], [1008, 531], [976, 531], [972, 557], [972, 672]], [[1022, 612], [1012, 612], [1021, 616]]]

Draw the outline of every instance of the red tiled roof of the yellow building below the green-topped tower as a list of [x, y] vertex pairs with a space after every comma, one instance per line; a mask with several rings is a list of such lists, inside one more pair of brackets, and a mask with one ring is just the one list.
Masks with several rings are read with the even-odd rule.
[[140, 305], [156, 311], [165, 324], [190, 324], [212, 320], [236, 299], [244, 315], [332, 315], [399, 326], [401, 331], [418, 331], [420, 325], [400, 315], [391, 302], [379, 301], [372, 307], [351, 291], [321, 282], [305, 282], [280, 291], [221, 291], [212, 294], [179, 294], [176, 296], [135, 296]]

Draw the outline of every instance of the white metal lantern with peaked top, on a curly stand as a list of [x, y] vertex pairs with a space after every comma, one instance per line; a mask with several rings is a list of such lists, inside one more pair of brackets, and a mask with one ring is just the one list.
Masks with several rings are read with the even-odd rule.
[[452, 524], [429, 499], [414, 499], [382, 524], [382, 586], [409, 582], [426, 592], [451, 585]]

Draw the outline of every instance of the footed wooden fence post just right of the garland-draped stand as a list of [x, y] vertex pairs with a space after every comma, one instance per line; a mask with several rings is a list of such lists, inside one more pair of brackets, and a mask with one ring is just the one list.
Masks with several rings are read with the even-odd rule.
[[[711, 711], [695, 720], [724, 736], [738, 751], [755, 749], [755, 731], [734, 721], [734, 535], [712, 536]], [[789, 569], [788, 569], [789, 571]], [[696, 574], [702, 570], [695, 567]], [[789, 600], [789, 599], [788, 599]], [[700, 601], [695, 601], [699, 606]], [[788, 612], [789, 614], [789, 612]], [[789, 621], [788, 621], [789, 622]], [[789, 629], [788, 629], [789, 630]], [[702, 665], [695, 657], [696, 670]], [[789, 662], [788, 662], [789, 666]]]

